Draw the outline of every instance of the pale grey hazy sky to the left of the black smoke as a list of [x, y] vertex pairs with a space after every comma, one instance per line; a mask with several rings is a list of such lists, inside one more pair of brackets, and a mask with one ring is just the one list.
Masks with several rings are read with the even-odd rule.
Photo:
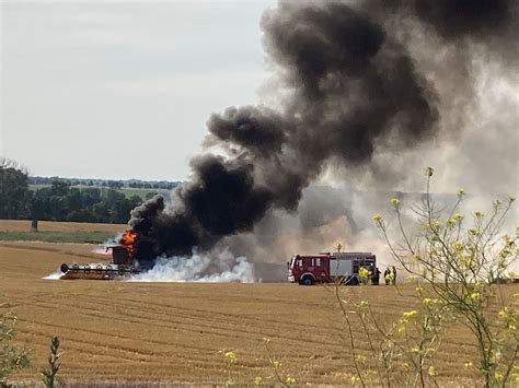
[[185, 179], [209, 115], [258, 102], [274, 5], [3, 0], [0, 155], [32, 175]]

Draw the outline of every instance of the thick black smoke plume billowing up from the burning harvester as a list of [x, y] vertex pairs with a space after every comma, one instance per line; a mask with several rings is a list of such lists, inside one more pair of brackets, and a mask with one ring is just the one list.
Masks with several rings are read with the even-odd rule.
[[446, 46], [510, 42], [516, 11], [505, 0], [281, 1], [267, 10], [264, 47], [284, 101], [210, 116], [205, 145], [227, 156], [194, 158], [171, 208], [158, 196], [131, 212], [147, 255], [211, 249], [253, 231], [269, 210], [296, 212], [330, 165], [370, 168], [382, 143], [399, 153], [437, 137], [435, 80], [411, 55], [410, 36]]

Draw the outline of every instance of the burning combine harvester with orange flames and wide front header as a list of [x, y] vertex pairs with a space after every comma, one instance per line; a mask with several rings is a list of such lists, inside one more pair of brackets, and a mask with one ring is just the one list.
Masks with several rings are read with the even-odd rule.
[[106, 247], [112, 250], [112, 261], [107, 264], [61, 264], [61, 280], [86, 279], [86, 280], [114, 280], [129, 278], [140, 273], [137, 257], [137, 244], [139, 234], [135, 231], [126, 231], [119, 239], [119, 245]]

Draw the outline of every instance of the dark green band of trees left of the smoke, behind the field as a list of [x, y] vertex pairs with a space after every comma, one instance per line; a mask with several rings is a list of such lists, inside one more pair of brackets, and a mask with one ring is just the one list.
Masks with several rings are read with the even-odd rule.
[[142, 202], [139, 196], [126, 198], [112, 188], [74, 188], [65, 179], [31, 190], [26, 169], [0, 157], [0, 219], [126, 223], [131, 209]]

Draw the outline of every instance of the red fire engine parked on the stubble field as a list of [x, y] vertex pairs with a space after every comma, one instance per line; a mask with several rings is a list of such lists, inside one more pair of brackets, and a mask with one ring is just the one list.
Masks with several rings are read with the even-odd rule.
[[331, 282], [357, 285], [360, 268], [374, 273], [376, 256], [371, 252], [295, 255], [288, 262], [288, 281], [303, 285]]

